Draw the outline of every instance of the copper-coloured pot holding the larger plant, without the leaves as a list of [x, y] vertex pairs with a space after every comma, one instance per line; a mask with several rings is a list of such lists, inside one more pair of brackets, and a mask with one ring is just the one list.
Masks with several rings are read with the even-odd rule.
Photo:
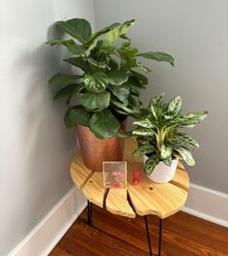
[[[126, 130], [127, 120], [121, 122], [121, 130]], [[76, 132], [81, 147], [82, 158], [87, 168], [102, 172], [102, 161], [122, 161], [125, 140], [112, 137], [98, 139], [88, 127], [76, 124]]]

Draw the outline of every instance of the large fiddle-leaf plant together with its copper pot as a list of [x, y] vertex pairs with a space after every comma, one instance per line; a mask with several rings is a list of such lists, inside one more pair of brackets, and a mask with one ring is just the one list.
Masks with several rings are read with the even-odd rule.
[[[123, 157], [124, 143], [117, 135], [121, 129], [125, 130], [126, 117], [139, 112], [140, 91], [148, 83], [141, 72], [150, 71], [138, 59], [174, 63], [167, 53], [139, 53], [137, 48], [131, 47], [126, 32], [133, 24], [132, 19], [92, 33], [86, 19], [58, 21], [57, 27], [70, 37], [46, 43], [66, 47], [72, 56], [64, 61], [79, 71], [57, 74], [48, 82], [60, 86], [54, 100], [67, 99], [65, 124], [69, 129], [76, 125], [83, 160], [94, 171], [101, 171], [102, 160]], [[122, 44], [115, 46], [119, 39]]]

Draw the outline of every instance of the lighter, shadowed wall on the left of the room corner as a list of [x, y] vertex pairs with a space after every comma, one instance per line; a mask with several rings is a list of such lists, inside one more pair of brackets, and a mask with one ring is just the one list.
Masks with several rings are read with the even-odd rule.
[[44, 46], [51, 24], [93, 22], [90, 0], [0, 1], [0, 255], [23, 240], [72, 186], [76, 138], [47, 80], [66, 70], [61, 48]]

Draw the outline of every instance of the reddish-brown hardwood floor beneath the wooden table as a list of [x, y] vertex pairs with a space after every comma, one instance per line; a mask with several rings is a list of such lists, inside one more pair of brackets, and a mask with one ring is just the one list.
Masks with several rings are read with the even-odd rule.
[[[93, 227], [86, 210], [50, 256], [148, 256], [144, 218], [128, 219], [93, 207]], [[149, 217], [154, 255], [158, 218]], [[185, 212], [163, 220], [162, 256], [228, 256], [228, 229]]]

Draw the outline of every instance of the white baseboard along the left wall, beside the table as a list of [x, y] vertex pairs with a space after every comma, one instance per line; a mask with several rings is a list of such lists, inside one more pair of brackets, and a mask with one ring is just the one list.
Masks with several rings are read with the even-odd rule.
[[43, 218], [8, 256], [46, 256], [65, 235], [72, 223], [86, 208], [86, 200], [76, 187]]

